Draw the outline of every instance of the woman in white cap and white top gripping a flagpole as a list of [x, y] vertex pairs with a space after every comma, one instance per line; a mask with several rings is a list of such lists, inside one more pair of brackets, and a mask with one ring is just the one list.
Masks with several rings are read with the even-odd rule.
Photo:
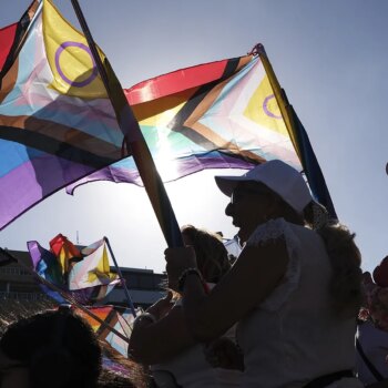
[[244, 245], [229, 273], [206, 294], [194, 251], [165, 252], [192, 336], [208, 341], [238, 323], [244, 388], [361, 387], [353, 377], [361, 298], [354, 235], [328, 223], [302, 175], [280, 161], [216, 183]]

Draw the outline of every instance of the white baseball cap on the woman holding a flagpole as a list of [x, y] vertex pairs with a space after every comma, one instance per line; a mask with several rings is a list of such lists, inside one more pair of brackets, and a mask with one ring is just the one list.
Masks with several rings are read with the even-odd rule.
[[215, 182], [227, 196], [232, 195], [239, 182], [264, 183], [298, 214], [313, 201], [302, 174], [279, 160], [262, 163], [241, 176], [215, 176]]

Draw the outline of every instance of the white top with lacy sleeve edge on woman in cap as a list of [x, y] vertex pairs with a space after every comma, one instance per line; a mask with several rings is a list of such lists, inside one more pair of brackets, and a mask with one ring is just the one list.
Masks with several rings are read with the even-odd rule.
[[[355, 367], [356, 319], [331, 314], [331, 266], [323, 239], [307, 227], [277, 218], [258, 226], [247, 245], [277, 238], [284, 238], [288, 251], [286, 275], [237, 325], [244, 388], [299, 388], [319, 376]], [[330, 387], [363, 385], [344, 378]]]

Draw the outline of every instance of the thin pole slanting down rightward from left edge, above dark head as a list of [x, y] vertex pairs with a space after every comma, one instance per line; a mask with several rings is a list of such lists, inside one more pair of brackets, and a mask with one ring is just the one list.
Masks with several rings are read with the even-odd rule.
[[8, 264], [11, 263], [18, 263], [18, 265], [20, 265], [25, 272], [28, 272], [29, 274], [31, 274], [39, 283], [43, 284], [44, 286], [51, 288], [52, 290], [57, 292], [58, 294], [60, 294], [63, 299], [68, 300], [70, 304], [76, 306], [79, 309], [81, 309], [83, 313], [85, 313], [86, 315], [89, 315], [91, 318], [93, 318], [94, 320], [96, 320], [99, 324], [101, 324], [103, 327], [105, 327], [106, 329], [109, 329], [110, 331], [112, 331], [114, 335], [116, 335], [118, 337], [120, 337], [122, 340], [124, 340], [125, 343], [130, 343], [129, 338], [126, 338], [125, 336], [123, 336], [120, 331], [118, 331], [115, 328], [113, 328], [112, 326], [110, 326], [109, 324], [106, 324], [103, 319], [101, 319], [100, 317], [98, 317], [96, 315], [94, 315], [92, 312], [90, 312], [86, 307], [80, 305], [72, 296], [70, 296], [69, 294], [67, 294], [65, 292], [63, 292], [61, 288], [57, 287], [55, 285], [53, 285], [52, 283], [48, 282], [44, 277], [41, 277], [39, 274], [37, 274], [32, 268], [30, 268], [29, 266], [27, 266], [25, 264], [21, 263], [17, 257], [14, 257], [13, 255], [11, 255], [7, 249], [3, 249], [0, 247], [0, 254], [7, 256], [8, 258]]

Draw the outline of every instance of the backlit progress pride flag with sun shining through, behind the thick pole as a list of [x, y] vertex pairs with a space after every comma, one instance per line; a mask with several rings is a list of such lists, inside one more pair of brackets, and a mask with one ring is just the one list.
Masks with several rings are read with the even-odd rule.
[[[182, 69], [125, 90], [164, 182], [280, 159], [302, 170], [258, 55]], [[142, 180], [126, 157], [69, 185]]]

